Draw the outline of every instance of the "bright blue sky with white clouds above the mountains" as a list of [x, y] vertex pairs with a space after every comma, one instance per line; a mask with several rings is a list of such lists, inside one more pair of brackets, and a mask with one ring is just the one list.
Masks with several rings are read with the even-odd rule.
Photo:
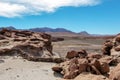
[[[35, 7], [34, 10], [29, 7], [31, 11], [26, 10], [26, 7], [24, 8], [24, 5], [29, 2], [19, 5], [22, 1], [0, 1], [0, 4], [5, 8], [10, 8], [10, 10], [7, 8], [0, 10], [1, 27], [14, 26], [18, 29], [34, 27], [66, 28], [74, 32], [87, 31], [91, 34], [117, 34], [120, 32], [120, 0], [83, 0], [83, 2], [76, 0], [77, 4], [75, 2], [69, 2], [68, 4], [67, 2], [59, 3], [56, 1], [56, 4], [59, 4], [53, 6], [52, 3], [44, 3], [50, 4], [50, 6], [44, 5], [45, 8], [42, 7], [41, 9], [36, 8], [35, 5], [30, 5]], [[39, 2], [42, 4], [42, 1]], [[10, 4], [6, 6], [6, 3]]]

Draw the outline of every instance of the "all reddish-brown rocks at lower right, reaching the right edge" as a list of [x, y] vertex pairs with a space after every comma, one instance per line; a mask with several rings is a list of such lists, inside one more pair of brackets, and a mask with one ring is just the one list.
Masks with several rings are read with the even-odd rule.
[[[66, 61], [57, 64], [52, 70], [61, 73], [64, 79], [120, 80], [120, 64], [110, 73], [109, 79], [105, 77], [108, 77], [110, 66], [116, 66], [120, 62], [120, 34], [114, 39], [106, 40], [102, 51], [103, 54], [87, 53], [85, 50], [69, 51]], [[90, 75], [82, 75], [83, 72]]]

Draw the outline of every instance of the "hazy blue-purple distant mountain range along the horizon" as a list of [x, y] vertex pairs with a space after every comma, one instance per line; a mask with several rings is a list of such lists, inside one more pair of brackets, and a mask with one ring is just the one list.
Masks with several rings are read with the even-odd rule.
[[75, 32], [72, 32], [72, 31], [64, 29], [64, 28], [52, 29], [52, 28], [48, 28], [48, 27], [43, 27], [43, 28], [31, 28], [31, 29], [16, 29], [13, 26], [9, 26], [9, 27], [0, 27], [0, 30], [3, 28], [12, 29], [12, 30], [29, 30], [29, 31], [34, 31], [34, 32], [46, 32], [46, 33], [50, 33], [50, 34], [54, 34], [54, 35], [57, 35], [57, 34], [59, 35], [59, 34], [63, 33], [65, 35], [70, 34], [70, 35], [81, 35], [81, 36], [101, 36], [99, 34], [89, 34], [86, 31], [81, 31], [79, 33], [75, 33]]

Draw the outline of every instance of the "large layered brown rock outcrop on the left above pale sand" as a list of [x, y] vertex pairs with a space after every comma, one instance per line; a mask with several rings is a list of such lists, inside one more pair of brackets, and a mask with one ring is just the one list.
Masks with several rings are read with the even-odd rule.
[[1, 30], [0, 55], [20, 55], [32, 61], [62, 61], [52, 52], [50, 35], [30, 31]]

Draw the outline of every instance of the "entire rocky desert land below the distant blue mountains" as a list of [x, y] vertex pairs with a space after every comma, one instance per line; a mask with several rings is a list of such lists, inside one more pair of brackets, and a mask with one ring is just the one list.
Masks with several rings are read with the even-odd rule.
[[3, 28], [0, 80], [120, 80], [119, 42], [119, 34]]

